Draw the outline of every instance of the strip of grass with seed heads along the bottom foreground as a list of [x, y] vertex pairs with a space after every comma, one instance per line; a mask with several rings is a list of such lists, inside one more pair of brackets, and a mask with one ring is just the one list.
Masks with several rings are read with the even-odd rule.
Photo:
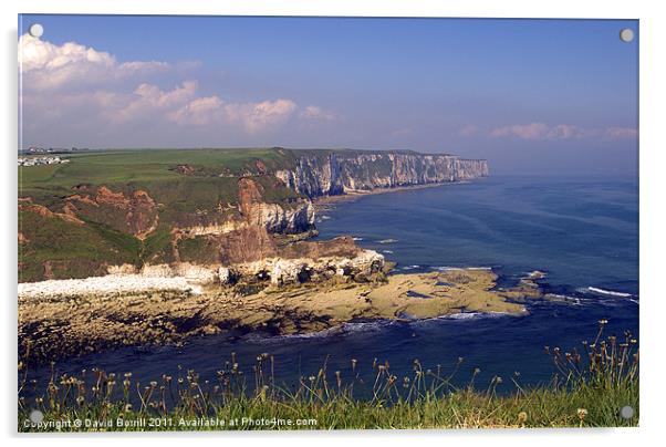
[[[248, 381], [235, 355], [216, 383], [200, 382], [194, 371], [174, 380], [141, 384], [132, 374], [123, 377], [93, 371], [81, 378], [52, 377], [45, 394], [23, 397], [31, 384], [19, 389], [19, 432], [80, 430], [209, 430], [209, 429], [358, 429], [358, 428], [521, 428], [521, 427], [607, 427], [638, 425], [637, 342], [626, 332], [622, 340], [602, 339], [605, 321], [593, 343], [583, 351], [547, 352], [559, 373], [548, 386], [516, 388], [499, 395], [502, 382], [493, 377], [479, 389], [475, 370], [468, 385], [451, 384], [454, 373], [443, 375], [424, 370], [414, 361], [410, 375], [397, 377], [388, 364], [373, 365], [370, 382], [357, 374], [352, 360], [351, 377], [329, 372], [301, 377], [293, 388], [275, 385], [274, 358], [262, 354]], [[251, 382], [251, 383], [249, 383]], [[355, 387], [370, 387], [357, 397]], [[625, 419], [620, 409], [634, 408]], [[39, 409], [41, 425], [31, 424]], [[34, 419], [34, 415], [33, 415]]]

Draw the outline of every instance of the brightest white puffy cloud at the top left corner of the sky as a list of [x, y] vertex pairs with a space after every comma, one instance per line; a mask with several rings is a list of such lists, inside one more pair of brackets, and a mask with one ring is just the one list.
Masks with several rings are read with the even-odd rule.
[[23, 89], [53, 90], [69, 84], [108, 83], [165, 71], [157, 61], [119, 63], [112, 54], [75, 42], [55, 45], [23, 34], [19, 39], [19, 69]]

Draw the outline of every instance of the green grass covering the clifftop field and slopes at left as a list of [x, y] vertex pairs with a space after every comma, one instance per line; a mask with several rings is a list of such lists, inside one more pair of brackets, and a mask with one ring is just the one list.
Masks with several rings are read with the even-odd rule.
[[[108, 207], [89, 207], [84, 226], [21, 211], [19, 230], [24, 237], [19, 247], [21, 281], [42, 280], [46, 269], [53, 278], [82, 278], [101, 274], [103, 264], [141, 267], [146, 260], [170, 262], [169, 231], [174, 227], [206, 225], [238, 212], [235, 207], [241, 176], [252, 176], [262, 188], [264, 201], [289, 207], [300, 197], [267, 174], [293, 166], [295, 157], [289, 149], [106, 150], [72, 154], [66, 158], [70, 163], [19, 167], [19, 197], [30, 198], [53, 212], [63, 212], [66, 197], [77, 194], [74, 188], [80, 185], [93, 188], [92, 191], [105, 186], [125, 195], [144, 190], [158, 204], [159, 227], [146, 240], [139, 240], [118, 230], [126, 217], [122, 210]], [[179, 165], [191, 171], [178, 173]], [[189, 246], [186, 257], [195, 260], [196, 257], [189, 256], [195, 247]], [[49, 266], [44, 267], [44, 262]]]

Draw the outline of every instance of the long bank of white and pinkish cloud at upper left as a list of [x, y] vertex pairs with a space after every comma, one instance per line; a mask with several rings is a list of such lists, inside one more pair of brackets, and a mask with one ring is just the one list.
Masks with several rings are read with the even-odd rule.
[[141, 133], [142, 128], [169, 126], [169, 132], [183, 127], [187, 133], [186, 127], [194, 126], [198, 131], [192, 132], [225, 128], [254, 135], [290, 123], [312, 125], [339, 118], [318, 105], [301, 107], [289, 98], [229, 102], [217, 94], [201, 95], [194, 80], [170, 89], [149, 82], [159, 71], [167, 71], [170, 79], [184, 73], [194, 77], [199, 66], [196, 61], [171, 65], [118, 62], [111, 53], [80, 43], [56, 45], [24, 34], [19, 39], [19, 63], [23, 128], [56, 127], [59, 133], [71, 128], [74, 141], [82, 127], [97, 133]]

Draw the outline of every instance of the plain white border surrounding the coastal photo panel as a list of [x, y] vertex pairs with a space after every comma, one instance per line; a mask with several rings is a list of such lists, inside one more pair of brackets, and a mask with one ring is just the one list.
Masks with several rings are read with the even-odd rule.
[[[2, 398], [0, 399], [0, 424], [2, 434], [11, 444], [44, 444], [49, 446], [72, 443], [116, 445], [118, 441], [138, 444], [159, 443], [181, 445], [188, 437], [197, 443], [243, 445], [273, 443], [290, 445], [303, 441], [319, 445], [337, 445], [353, 440], [398, 445], [416, 443], [465, 443], [493, 445], [558, 445], [562, 443], [604, 443], [607, 446], [638, 441], [648, 443], [659, 435], [662, 424], [664, 367], [659, 342], [664, 336], [660, 322], [666, 295], [663, 292], [662, 269], [666, 253], [664, 243], [664, 193], [666, 185], [662, 171], [666, 169], [664, 152], [663, 105], [666, 104], [663, 83], [666, 79], [664, 54], [666, 53], [666, 23], [659, 14], [658, 2], [645, 1], [521, 1], [521, 0], [468, 0], [465, 2], [427, 0], [235, 0], [214, 3], [210, 0], [187, 1], [82, 1], [82, 0], [23, 0], [0, 3], [2, 9], [2, 98], [0, 125], [4, 146], [2, 168], [1, 219], [4, 243], [2, 257]], [[641, 20], [641, 349], [642, 349], [642, 403], [641, 428], [599, 430], [480, 430], [480, 432], [336, 432], [296, 434], [163, 434], [137, 436], [56, 436], [17, 438], [15, 432], [15, 197], [17, 197], [17, 14], [23, 13], [124, 13], [124, 14], [248, 14], [248, 15], [373, 15], [373, 17], [504, 17], [504, 18], [594, 18]], [[662, 331], [660, 331], [662, 330]], [[662, 347], [663, 350], [663, 347]], [[13, 378], [12, 378], [13, 377]]]

